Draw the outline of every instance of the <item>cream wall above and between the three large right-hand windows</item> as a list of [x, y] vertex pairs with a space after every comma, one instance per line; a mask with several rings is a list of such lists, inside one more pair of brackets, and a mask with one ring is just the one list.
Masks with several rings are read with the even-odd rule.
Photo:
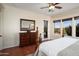
[[[68, 10], [68, 11], [66, 11], [66, 12], [62, 12], [61, 14], [57, 14], [57, 15], [53, 15], [52, 16], [52, 22], [53, 22], [53, 20], [61, 20], [61, 19], [65, 19], [65, 18], [70, 18], [70, 17], [74, 17], [74, 16], [79, 16], [79, 7], [77, 7], [77, 8], [74, 8], [74, 9], [72, 9], [72, 10]], [[73, 21], [72, 21], [73, 22]], [[54, 26], [53, 26], [53, 23], [51, 24], [52, 25], [52, 27], [53, 27], [53, 34], [54, 34]], [[63, 26], [63, 25], [62, 25]], [[72, 36], [73, 37], [75, 37], [75, 22], [74, 23], [72, 23]], [[62, 32], [62, 29], [61, 29], [61, 32]], [[50, 34], [52, 34], [52, 33], [50, 33]], [[61, 35], [57, 35], [56, 37], [61, 37]], [[51, 35], [50, 36], [51, 38], [53, 37], [54, 38], [54, 35]]]

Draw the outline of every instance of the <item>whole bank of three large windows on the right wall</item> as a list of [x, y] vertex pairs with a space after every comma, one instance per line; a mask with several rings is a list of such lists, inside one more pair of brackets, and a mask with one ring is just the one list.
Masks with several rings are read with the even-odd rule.
[[79, 16], [54, 21], [54, 33], [79, 37]]

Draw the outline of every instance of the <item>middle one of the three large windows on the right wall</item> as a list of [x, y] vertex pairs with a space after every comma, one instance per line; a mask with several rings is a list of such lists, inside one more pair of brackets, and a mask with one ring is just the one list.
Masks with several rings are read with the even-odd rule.
[[72, 18], [63, 19], [63, 36], [72, 36]]

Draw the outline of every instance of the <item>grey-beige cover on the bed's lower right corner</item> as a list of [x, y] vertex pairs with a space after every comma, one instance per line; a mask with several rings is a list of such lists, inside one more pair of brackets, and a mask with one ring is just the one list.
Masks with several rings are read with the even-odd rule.
[[79, 56], [79, 41], [60, 51], [58, 56]]

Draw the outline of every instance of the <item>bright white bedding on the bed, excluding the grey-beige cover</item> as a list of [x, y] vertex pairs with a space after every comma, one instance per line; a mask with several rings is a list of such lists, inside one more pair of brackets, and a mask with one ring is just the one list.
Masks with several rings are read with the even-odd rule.
[[72, 37], [63, 37], [60, 39], [44, 42], [39, 46], [38, 55], [47, 55], [47, 56], [57, 56], [57, 54], [68, 46], [79, 41], [76, 38]]

